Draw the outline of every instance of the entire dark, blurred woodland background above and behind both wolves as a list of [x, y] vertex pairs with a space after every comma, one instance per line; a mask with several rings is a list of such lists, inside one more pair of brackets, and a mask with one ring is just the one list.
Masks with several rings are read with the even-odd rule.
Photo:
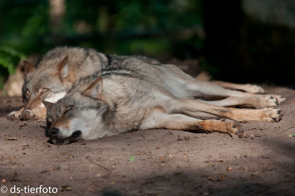
[[0, 1], [0, 88], [20, 59], [59, 45], [198, 59], [214, 79], [294, 88], [295, 1]]

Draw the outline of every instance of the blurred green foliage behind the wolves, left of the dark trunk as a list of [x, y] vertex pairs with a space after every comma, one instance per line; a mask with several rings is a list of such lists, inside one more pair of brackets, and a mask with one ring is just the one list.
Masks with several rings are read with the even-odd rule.
[[[204, 42], [199, 0], [60, 0], [61, 15], [51, 12], [52, 2], [1, 1], [0, 46], [30, 55], [73, 45], [165, 60], [193, 58]], [[25, 58], [9, 54], [0, 56], [2, 77], [12, 73], [17, 58]]]

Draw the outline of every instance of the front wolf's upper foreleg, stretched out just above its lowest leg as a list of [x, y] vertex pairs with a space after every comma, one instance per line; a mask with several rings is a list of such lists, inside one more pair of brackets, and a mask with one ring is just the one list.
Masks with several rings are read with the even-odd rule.
[[167, 109], [169, 109], [168, 113], [182, 113], [197, 118], [229, 118], [240, 122], [278, 122], [282, 118], [281, 110], [277, 108], [265, 108], [260, 110], [227, 108], [210, 105], [198, 100], [187, 98], [175, 100], [173, 104], [173, 107], [167, 107]]

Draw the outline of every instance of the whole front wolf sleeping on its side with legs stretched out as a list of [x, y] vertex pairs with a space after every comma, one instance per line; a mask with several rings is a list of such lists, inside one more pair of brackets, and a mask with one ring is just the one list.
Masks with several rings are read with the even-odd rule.
[[174, 65], [127, 58], [78, 79], [56, 103], [43, 104], [47, 108], [46, 135], [61, 145], [158, 128], [219, 132], [241, 138], [240, 122], [281, 120], [282, 112], [275, 106], [284, 100], [279, 95], [224, 89], [197, 80]]

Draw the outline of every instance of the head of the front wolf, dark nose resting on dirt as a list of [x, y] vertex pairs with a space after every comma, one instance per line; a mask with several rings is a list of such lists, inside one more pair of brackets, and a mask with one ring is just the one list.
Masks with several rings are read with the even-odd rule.
[[47, 136], [55, 144], [109, 135], [105, 127], [108, 105], [101, 101], [102, 79], [79, 79], [55, 104], [43, 101], [47, 108]]

